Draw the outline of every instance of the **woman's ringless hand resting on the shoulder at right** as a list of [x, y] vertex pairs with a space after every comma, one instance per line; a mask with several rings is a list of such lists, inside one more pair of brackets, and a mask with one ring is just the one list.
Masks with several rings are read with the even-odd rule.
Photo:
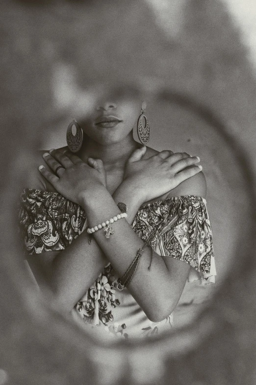
[[200, 162], [197, 156], [164, 150], [142, 159], [146, 149], [143, 146], [133, 151], [124, 174], [124, 181], [140, 191], [145, 202], [169, 192], [202, 170], [202, 166], [196, 165]]

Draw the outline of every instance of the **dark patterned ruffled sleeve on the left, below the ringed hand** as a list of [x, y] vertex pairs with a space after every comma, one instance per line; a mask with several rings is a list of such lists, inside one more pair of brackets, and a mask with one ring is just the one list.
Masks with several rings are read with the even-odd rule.
[[83, 209], [59, 193], [25, 189], [19, 208], [19, 228], [26, 252], [65, 249], [86, 228]]

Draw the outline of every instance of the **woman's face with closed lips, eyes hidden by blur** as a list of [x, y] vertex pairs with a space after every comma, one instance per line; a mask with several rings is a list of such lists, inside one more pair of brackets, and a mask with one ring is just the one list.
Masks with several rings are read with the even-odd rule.
[[102, 145], [122, 141], [137, 123], [142, 96], [132, 87], [105, 90], [103, 86], [95, 95], [86, 118], [78, 120], [83, 132]]

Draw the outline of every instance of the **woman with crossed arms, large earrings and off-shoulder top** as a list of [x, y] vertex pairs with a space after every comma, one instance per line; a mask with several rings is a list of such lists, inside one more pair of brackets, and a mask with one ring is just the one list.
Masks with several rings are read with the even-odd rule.
[[136, 142], [136, 124], [149, 138], [145, 107], [102, 91], [68, 147], [40, 154], [20, 211], [27, 260], [56, 306], [126, 338], [170, 328], [186, 280], [216, 274], [200, 159]]

